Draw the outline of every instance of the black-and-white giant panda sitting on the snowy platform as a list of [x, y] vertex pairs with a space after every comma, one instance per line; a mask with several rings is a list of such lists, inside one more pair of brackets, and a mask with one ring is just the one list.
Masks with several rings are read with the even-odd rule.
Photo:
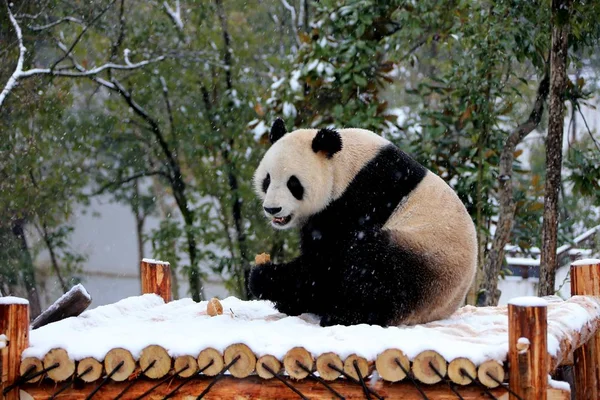
[[364, 129], [299, 129], [277, 119], [254, 186], [275, 229], [300, 230], [300, 256], [255, 266], [252, 294], [322, 326], [419, 324], [450, 316], [474, 278], [475, 227], [456, 193]]

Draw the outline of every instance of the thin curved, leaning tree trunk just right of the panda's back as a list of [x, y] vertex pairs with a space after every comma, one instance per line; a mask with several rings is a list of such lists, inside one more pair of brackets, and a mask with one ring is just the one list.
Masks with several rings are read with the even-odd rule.
[[498, 276], [504, 262], [504, 247], [510, 240], [510, 234], [513, 227], [514, 215], [516, 210], [515, 200], [513, 198], [513, 161], [514, 152], [517, 145], [531, 133], [540, 123], [544, 112], [544, 102], [548, 97], [550, 79], [548, 74], [540, 81], [533, 110], [529, 118], [523, 124], [519, 125], [513, 131], [502, 148], [500, 154], [500, 171], [498, 174], [498, 223], [496, 232], [492, 239], [492, 247], [487, 254], [483, 267], [483, 281], [481, 285], [481, 295], [477, 301], [479, 306], [495, 306], [500, 300], [500, 291], [498, 290]]

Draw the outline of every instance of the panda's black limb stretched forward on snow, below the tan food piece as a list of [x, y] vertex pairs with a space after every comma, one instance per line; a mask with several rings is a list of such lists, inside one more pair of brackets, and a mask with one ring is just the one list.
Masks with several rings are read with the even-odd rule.
[[262, 264], [250, 272], [249, 288], [254, 296], [271, 300], [285, 314], [317, 313], [319, 293], [313, 270], [301, 257], [284, 264]]

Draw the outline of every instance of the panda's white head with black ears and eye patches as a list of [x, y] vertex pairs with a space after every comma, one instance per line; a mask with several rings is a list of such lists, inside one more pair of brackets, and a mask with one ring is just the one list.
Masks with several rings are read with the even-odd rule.
[[254, 175], [263, 211], [277, 229], [300, 226], [333, 199], [333, 163], [342, 139], [331, 129], [287, 133], [283, 120], [273, 123], [273, 144]]

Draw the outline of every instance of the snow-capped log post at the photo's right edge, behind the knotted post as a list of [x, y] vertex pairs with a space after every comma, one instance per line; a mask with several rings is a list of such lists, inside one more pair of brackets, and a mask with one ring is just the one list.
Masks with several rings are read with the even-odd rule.
[[[600, 260], [581, 260], [571, 264], [571, 296], [600, 296]], [[600, 332], [575, 350], [573, 355], [575, 398], [600, 396]]]

